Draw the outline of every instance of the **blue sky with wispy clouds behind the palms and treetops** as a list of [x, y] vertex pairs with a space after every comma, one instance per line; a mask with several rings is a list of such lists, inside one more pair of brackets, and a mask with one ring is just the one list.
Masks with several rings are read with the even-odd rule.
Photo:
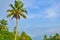
[[[60, 0], [22, 0], [27, 9], [27, 19], [19, 20], [18, 31], [25, 31], [33, 40], [43, 40], [44, 34], [60, 33]], [[14, 0], [0, 1], [0, 19], [8, 20], [9, 30], [13, 31], [15, 19], [6, 17], [9, 4]]]

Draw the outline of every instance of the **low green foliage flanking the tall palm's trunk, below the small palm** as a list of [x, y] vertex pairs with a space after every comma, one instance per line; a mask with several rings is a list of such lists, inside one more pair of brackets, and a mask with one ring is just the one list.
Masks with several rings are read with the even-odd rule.
[[[17, 35], [17, 40], [32, 40], [25, 32]], [[0, 40], [14, 40], [13, 32], [0, 30]]]

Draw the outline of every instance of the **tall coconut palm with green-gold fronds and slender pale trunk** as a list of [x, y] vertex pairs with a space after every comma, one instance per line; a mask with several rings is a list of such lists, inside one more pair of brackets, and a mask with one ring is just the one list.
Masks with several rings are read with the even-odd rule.
[[16, 19], [15, 40], [16, 40], [16, 36], [17, 36], [18, 19], [20, 19], [20, 17], [23, 17], [24, 19], [26, 19], [26, 16], [24, 13], [27, 14], [27, 11], [23, 6], [24, 6], [24, 4], [20, 0], [15, 0], [14, 5], [10, 4], [10, 7], [12, 9], [7, 10], [7, 12], [9, 12], [7, 17], [12, 17], [11, 19], [13, 19], [13, 18]]

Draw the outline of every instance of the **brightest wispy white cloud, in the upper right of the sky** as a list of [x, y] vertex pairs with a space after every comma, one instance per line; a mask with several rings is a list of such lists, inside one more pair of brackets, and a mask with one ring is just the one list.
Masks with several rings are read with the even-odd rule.
[[60, 8], [59, 3], [55, 4], [53, 3], [52, 6], [50, 8], [48, 8], [47, 10], [45, 10], [45, 14], [46, 14], [46, 18], [56, 18], [58, 17], [60, 14], [58, 13], [58, 9]]

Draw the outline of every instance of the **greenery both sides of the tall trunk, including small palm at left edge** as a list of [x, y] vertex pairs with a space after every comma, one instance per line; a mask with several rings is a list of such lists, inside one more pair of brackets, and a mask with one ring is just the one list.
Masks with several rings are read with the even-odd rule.
[[[3, 26], [3, 25], [5, 26]], [[7, 21], [5, 19], [0, 20], [0, 40], [14, 40], [14, 31], [10, 32], [8, 27], [6, 26]], [[4, 29], [3, 29], [4, 27]], [[29, 35], [27, 35], [25, 32], [22, 32], [21, 34], [17, 34], [17, 40], [32, 40]]]

